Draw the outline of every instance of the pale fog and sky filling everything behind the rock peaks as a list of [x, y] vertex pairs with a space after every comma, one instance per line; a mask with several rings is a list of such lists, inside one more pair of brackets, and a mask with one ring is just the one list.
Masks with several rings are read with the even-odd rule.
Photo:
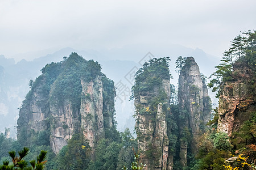
[[[255, 0], [1, 0], [0, 55], [4, 57], [0, 56], [0, 66], [6, 77], [10, 74], [20, 82], [7, 84], [8, 89], [2, 91], [9, 98], [0, 96], [0, 130], [16, 126], [16, 108], [28, 92], [28, 81], [35, 80], [46, 63], [61, 61], [71, 52], [99, 61], [103, 73], [129, 89], [132, 83], [126, 75], [141, 66], [139, 61], [148, 52], [171, 57], [171, 83], [177, 84], [174, 63], [178, 56], [195, 57], [200, 71], [209, 76], [230, 41], [240, 31], [256, 28], [255, 6]], [[16, 65], [13, 59], [11, 67], [6, 65], [6, 58], [14, 58]], [[121, 130], [130, 121], [133, 104], [128, 101], [130, 91], [126, 98], [119, 94], [115, 107]]]

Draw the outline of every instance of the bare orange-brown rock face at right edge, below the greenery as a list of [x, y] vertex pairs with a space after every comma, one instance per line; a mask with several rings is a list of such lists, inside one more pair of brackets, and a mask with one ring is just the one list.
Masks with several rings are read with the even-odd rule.
[[232, 137], [244, 121], [249, 120], [250, 113], [256, 110], [255, 90], [246, 81], [227, 82], [223, 84], [218, 107], [218, 129]]

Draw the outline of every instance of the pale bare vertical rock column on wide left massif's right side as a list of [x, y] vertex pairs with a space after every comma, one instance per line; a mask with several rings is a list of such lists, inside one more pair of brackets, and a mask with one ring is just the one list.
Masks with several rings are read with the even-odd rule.
[[96, 80], [86, 83], [81, 81], [82, 95], [81, 100], [81, 129], [84, 138], [88, 141], [94, 158], [94, 148], [98, 139], [105, 137], [102, 96], [102, 82], [98, 77]]

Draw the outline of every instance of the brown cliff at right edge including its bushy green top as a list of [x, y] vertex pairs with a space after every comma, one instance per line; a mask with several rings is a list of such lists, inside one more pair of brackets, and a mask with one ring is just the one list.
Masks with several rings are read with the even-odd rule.
[[218, 107], [217, 131], [225, 132], [229, 137], [256, 111], [255, 73], [240, 62], [233, 67], [236, 80], [222, 84]]

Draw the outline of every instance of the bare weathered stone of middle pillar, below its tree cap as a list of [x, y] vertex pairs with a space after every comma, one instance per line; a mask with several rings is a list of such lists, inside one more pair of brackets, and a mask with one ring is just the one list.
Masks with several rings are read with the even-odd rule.
[[[154, 88], [147, 95], [135, 97], [135, 107], [149, 109], [151, 105], [148, 100], [159, 95], [159, 89], [163, 89], [167, 94], [166, 103], [170, 100], [170, 80], [163, 80], [160, 87]], [[168, 145], [166, 111], [163, 111], [163, 103], [159, 103], [156, 114], [152, 111], [140, 113], [137, 111], [135, 129], [138, 137], [138, 147], [143, 164], [147, 164], [145, 169], [167, 169]]]

